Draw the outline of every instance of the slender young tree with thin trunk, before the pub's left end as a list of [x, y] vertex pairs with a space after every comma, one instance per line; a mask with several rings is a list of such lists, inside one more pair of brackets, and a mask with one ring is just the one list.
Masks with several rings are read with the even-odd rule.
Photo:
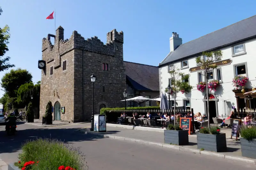
[[[180, 71], [180, 69], [175, 68], [174, 65], [172, 67], [172, 70], [169, 71], [171, 75], [171, 85], [169, 84], [169, 87], [172, 88], [172, 95], [174, 95], [174, 117], [176, 114], [176, 97], [179, 92], [182, 93], [189, 93], [191, 92], [191, 89], [193, 86], [189, 85], [188, 78], [189, 75], [185, 75]], [[167, 92], [167, 89], [166, 89]], [[174, 124], [176, 123], [176, 120], [174, 119]]]

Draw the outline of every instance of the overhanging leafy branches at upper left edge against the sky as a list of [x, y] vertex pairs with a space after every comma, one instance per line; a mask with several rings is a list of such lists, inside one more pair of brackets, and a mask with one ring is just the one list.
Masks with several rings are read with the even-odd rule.
[[[0, 15], [2, 14], [3, 10], [0, 7]], [[7, 44], [9, 43], [10, 39], [10, 27], [8, 25], [4, 26], [4, 28], [0, 28], [0, 71], [7, 70], [9, 68], [14, 67], [15, 65], [10, 64], [9, 60], [10, 57], [3, 57], [4, 54], [9, 51]]]

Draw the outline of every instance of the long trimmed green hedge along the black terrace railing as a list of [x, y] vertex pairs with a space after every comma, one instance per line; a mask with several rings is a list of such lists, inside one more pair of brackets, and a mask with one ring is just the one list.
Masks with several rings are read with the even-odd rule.
[[100, 115], [106, 115], [106, 113], [108, 112], [133, 112], [134, 110], [137, 110], [137, 111], [134, 111], [134, 112], [138, 112], [139, 111], [145, 111], [147, 112], [147, 110], [155, 110], [155, 109], [160, 109], [160, 107], [158, 106], [149, 106], [149, 107], [126, 107], [126, 110], [124, 107], [115, 107], [115, 108], [101, 108], [100, 109]]

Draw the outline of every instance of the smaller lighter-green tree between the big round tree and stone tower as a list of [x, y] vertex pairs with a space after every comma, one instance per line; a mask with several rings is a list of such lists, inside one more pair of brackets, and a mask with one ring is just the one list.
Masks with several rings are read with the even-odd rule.
[[31, 90], [34, 88], [32, 82], [21, 85], [17, 91], [17, 102], [25, 107], [31, 101]]

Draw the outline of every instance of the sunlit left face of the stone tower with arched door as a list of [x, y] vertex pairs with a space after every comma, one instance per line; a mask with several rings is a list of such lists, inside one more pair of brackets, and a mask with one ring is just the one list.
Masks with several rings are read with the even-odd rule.
[[[59, 27], [60, 28], [60, 27]], [[60, 29], [56, 30], [56, 35]], [[63, 28], [62, 28], [63, 29]], [[72, 35], [73, 36], [73, 35]], [[61, 36], [60, 36], [61, 37]], [[62, 36], [63, 37], [63, 36]], [[48, 38], [47, 38], [48, 39]], [[74, 50], [72, 49], [72, 38], [69, 41], [55, 38], [55, 45], [50, 41], [43, 39], [42, 59], [46, 61], [46, 68], [41, 72], [41, 91], [40, 91], [40, 118], [44, 115], [45, 107], [48, 101], [54, 106], [56, 101], [60, 102], [61, 107], [65, 107], [65, 114], [60, 114], [61, 120], [74, 120]], [[59, 47], [60, 41], [60, 49]], [[46, 44], [48, 43], [48, 48]], [[59, 57], [60, 51], [60, 57]], [[54, 59], [60, 58], [61, 67], [53, 68], [53, 74], [50, 75], [50, 68], [54, 66]], [[66, 70], [62, 69], [63, 61], [67, 61]], [[57, 96], [58, 93], [58, 96]], [[54, 117], [54, 114], [52, 115]]]

